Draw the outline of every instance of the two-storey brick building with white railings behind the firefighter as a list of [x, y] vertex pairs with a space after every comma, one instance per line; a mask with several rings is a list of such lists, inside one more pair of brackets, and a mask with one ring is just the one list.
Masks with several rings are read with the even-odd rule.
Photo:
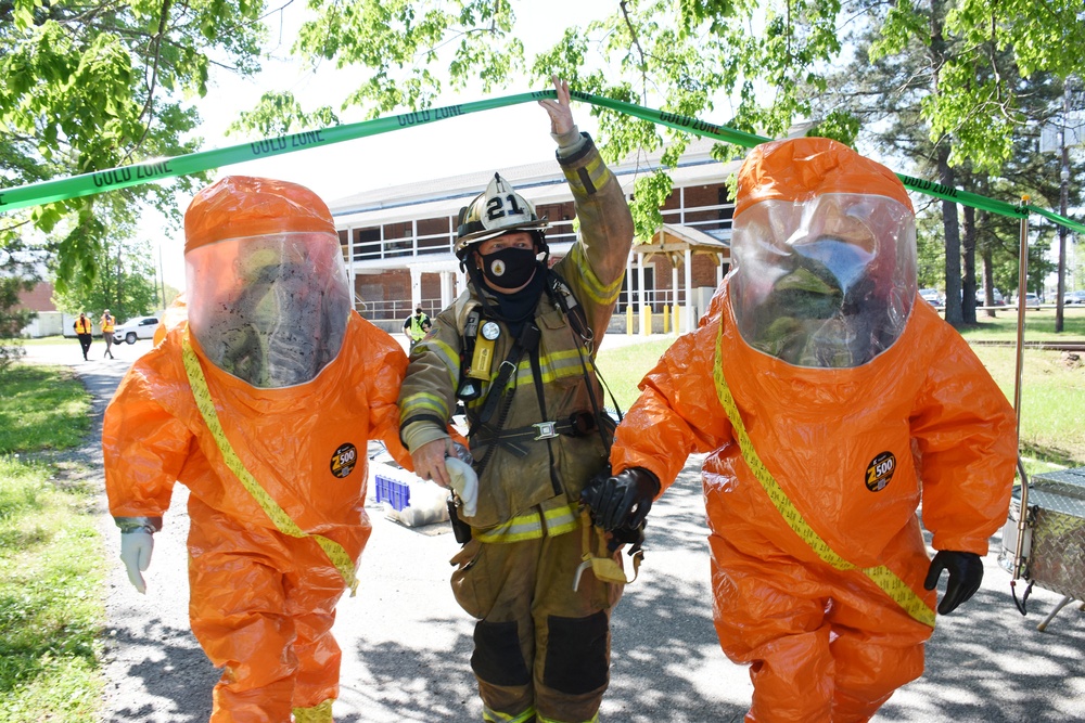
[[[674, 191], [661, 209], [663, 225], [651, 243], [634, 245], [613, 328], [626, 328], [630, 305], [641, 332], [653, 315], [656, 331], [662, 331], [664, 309], [674, 313], [675, 306], [681, 308], [685, 332], [707, 308], [730, 262], [735, 205], [727, 178], [741, 164], [714, 160], [712, 145], [709, 140], [693, 141], [672, 170]], [[631, 198], [636, 179], [658, 165], [656, 154], [611, 169]], [[550, 260], [562, 258], [576, 238], [576, 228], [573, 197], [558, 162], [494, 171], [534, 203], [539, 217], [547, 217]], [[434, 315], [451, 304], [465, 285], [452, 253], [457, 217], [486, 188], [494, 171], [420, 179], [329, 204], [347, 259], [355, 308], [362, 317], [394, 333], [416, 307]]]

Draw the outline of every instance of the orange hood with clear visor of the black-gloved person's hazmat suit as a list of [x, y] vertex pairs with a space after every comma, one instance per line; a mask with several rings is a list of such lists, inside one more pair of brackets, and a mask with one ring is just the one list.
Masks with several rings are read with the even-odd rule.
[[755, 147], [739, 171], [729, 276], [746, 344], [789, 364], [865, 364], [916, 297], [916, 224], [896, 176], [846, 145]]

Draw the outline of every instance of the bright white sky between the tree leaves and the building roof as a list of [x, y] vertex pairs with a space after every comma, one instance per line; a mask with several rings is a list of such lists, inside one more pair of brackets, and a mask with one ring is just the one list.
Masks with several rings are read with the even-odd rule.
[[[547, 3], [518, 3], [519, 27], [536, 28], [524, 38], [526, 56], [554, 42], [564, 28], [564, 22], [576, 18], [578, 23], [592, 20], [584, 11], [584, 0], [549, 0]], [[611, 3], [588, 3], [597, 10], [612, 10]], [[304, 3], [293, 2], [282, 11], [282, 34], [279, 50], [285, 57], [293, 44], [293, 36], [301, 25]], [[561, 22], [554, 22], [561, 18]], [[269, 26], [279, 27], [277, 18], [269, 18]], [[331, 105], [341, 122], [363, 120], [357, 108], [341, 111], [340, 104], [347, 90], [355, 87], [358, 70], [340, 70], [326, 63], [316, 73], [285, 60], [264, 63], [264, 72], [248, 79], [240, 79], [217, 70], [210, 77], [208, 94], [196, 102], [203, 117], [197, 134], [204, 139], [203, 150], [237, 145], [252, 138], [227, 135], [226, 129], [242, 111], [252, 108], [260, 95], [269, 90], [290, 90], [306, 111], [319, 105]], [[355, 79], [352, 78], [354, 76]], [[549, 87], [549, 86], [548, 86]], [[529, 90], [542, 90], [538, 83], [514, 86], [494, 93], [511, 95]], [[448, 94], [438, 106], [483, 100], [478, 92]], [[573, 117], [580, 130], [595, 130], [588, 117], [588, 106], [574, 102]], [[227, 175], [263, 176], [301, 183], [326, 202], [370, 191], [381, 186], [408, 183], [422, 177], [443, 178], [472, 171], [500, 170], [501, 168], [535, 163], [551, 157], [554, 144], [550, 138], [550, 121], [546, 111], [536, 103], [473, 113], [467, 116], [439, 120], [422, 127], [406, 128], [355, 141], [346, 141], [308, 151], [226, 166], [215, 178]], [[191, 201], [190, 194], [178, 194], [182, 210]], [[141, 235], [161, 245], [162, 273], [166, 284], [184, 288], [183, 233], [170, 230], [161, 218], [148, 215]]]

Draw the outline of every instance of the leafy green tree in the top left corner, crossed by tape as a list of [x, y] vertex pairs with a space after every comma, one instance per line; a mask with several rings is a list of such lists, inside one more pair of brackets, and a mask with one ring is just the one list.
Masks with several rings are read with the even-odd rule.
[[[208, 69], [258, 69], [260, 0], [0, 0], [0, 178], [22, 185], [197, 150], [186, 99]], [[179, 218], [175, 191], [205, 178], [131, 186], [0, 216], [0, 248], [30, 225], [50, 234], [56, 287], [91, 283], [104, 219], [140, 204]]]

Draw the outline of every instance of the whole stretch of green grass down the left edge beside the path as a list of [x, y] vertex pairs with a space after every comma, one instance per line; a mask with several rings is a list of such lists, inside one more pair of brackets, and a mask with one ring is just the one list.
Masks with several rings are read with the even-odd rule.
[[87, 393], [61, 370], [12, 371], [0, 383], [0, 722], [92, 723], [104, 688], [98, 488], [79, 481], [80, 463], [47, 461], [86, 434]]

